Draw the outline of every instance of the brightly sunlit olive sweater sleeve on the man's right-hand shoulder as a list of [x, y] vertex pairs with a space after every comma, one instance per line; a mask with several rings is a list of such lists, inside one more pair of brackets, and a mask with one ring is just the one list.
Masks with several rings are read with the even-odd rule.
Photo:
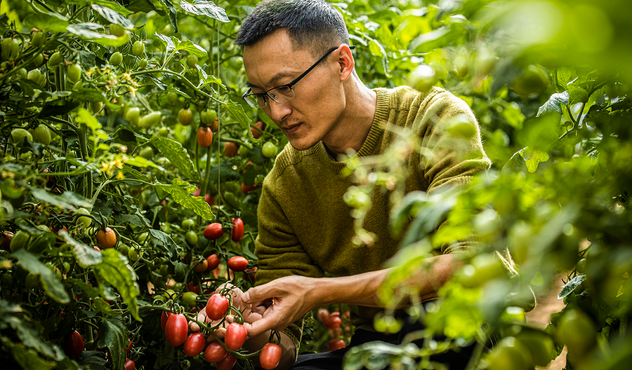
[[[423, 112], [416, 122], [421, 138], [420, 167], [428, 193], [466, 185], [473, 175], [489, 169], [491, 161], [483, 150], [480, 127], [462, 99], [443, 91], [428, 97], [425, 109], [419, 112]], [[468, 238], [442, 245], [441, 253], [464, 251], [476, 243], [475, 238]]]

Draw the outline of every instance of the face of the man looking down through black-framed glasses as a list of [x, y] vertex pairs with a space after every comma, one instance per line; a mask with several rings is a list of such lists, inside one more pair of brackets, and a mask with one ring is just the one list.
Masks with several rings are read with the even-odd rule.
[[[336, 46], [336, 45], [331, 45]], [[277, 103], [268, 98], [265, 113], [281, 128], [296, 149], [323, 140], [339, 121], [345, 97], [334, 51], [294, 87], [294, 98]], [[287, 30], [278, 30], [244, 47], [244, 66], [253, 93], [290, 83], [318, 59], [308, 50], [293, 50]]]

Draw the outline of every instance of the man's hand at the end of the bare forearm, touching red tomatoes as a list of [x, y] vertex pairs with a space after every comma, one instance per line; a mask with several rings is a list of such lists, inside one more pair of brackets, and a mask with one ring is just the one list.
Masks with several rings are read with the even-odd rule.
[[319, 307], [321, 302], [313, 294], [316, 280], [286, 276], [243, 293], [244, 303], [251, 304], [252, 311], [262, 312], [260, 320], [244, 324], [248, 334], [252, 337], [272, 329], [281, 331]]

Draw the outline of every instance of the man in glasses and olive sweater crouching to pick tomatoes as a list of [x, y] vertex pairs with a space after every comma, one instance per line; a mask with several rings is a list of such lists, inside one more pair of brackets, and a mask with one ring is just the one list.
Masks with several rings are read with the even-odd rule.
[[[244, 20], [236, 44], [250, 89], [244, 99], [261, 108], [287, 136], [266, 177], [259, 203], [256, 242], [257, 287], [240, 294], [252, 307], [246, 317], [248, 346], [263, 346], [271, 329], [282, 331], [283, 360], [295, 361], [303, 316], [333, 303], [352, 306], [352, 344], [386, 340], [373, 329], [380, 311], [377, 288], [388, 274], [384, 262], [398, 248], [388, 232], [388, 194], [373, 194], [364, 227], [377, 235], [374, 245], [355, 246], [351, 209], [343, 194], [352, 185], [340, 176], [338, 156], [379, 155], [394, 139], [389, 125], [412, 129], [419, 152], [411, 154], [406, 191], [434, 191], [461, 185], [489, 167], [477, 133], [455, 152], [445, 122], [466, 117], [469, 107], [441, 89], [371, 90], [354, 71], [355, 61], [342, 15], [320, 0], [263, 1]], [[421, 150], [423, 149], [423, 150]], [[438, 160], [430, 160], [428, 151]], [[423, 300], [435, 297], [457, 265], [446, 246], [420, 272]], [[328, 273], [334, 278], [324, 278]], [[250, 310], [248, 310], [250, 312]], [[299, 356], [294, 368], [341, 368], [344, 350]]]

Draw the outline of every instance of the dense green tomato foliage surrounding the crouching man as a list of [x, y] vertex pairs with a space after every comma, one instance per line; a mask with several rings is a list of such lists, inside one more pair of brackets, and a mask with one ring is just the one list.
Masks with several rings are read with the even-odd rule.
[[[226, 343], [207, 346], [196, 335], [223, 325], [232, 303], [223, 289], [211, 305], [212, 292], [226, 281], [253, 283], [258, 186], [287, 143], [240, 99], [245, 74], [232, 40], [254, 5], [1, 2], [7, 367], [250, 368], [248, 358], [259, 356], [239, 350], [236, 326]], [[632, 356], [629, 5], [336, 6], [367, 85], [437, 85], [457, 94], [474, 110], [493, 161], [471, 186], [432, 195], [400, 191], [402, 156], [416, 148], [406, 133], [381, 158], [348, 161], [356, 242], [372, 242], [362, 215], [373, 191], [391, 193], [389, 227], [402, 237], [376, 328], [397, 331], [390, 314], [411, 296], [409, 313], [428, 327], [419, 337], [447, 339], [422, 348], [365, 345], [350, 351], [346, 367], [437, 368], [432, 353], [473, 342], [472, 369], [546, 365], [564, 345], [569, 368], [624, 366]], [[476, 134], [458, 119], [449, 127], [457, 145]], [[410, 280], [438, 246], [471, 235], [476, 248], [424, 310]], [[527, 326], [531, 289], [543, 290], [559, 272], [568, 274], [566, 308], [545, 331]], [[198, 321], [200, 309], [218, 321]], [[344, 305], [308, 322], [303, 351], [348, 343]], [[277, 339], [262, 355], [270, 366]]]

